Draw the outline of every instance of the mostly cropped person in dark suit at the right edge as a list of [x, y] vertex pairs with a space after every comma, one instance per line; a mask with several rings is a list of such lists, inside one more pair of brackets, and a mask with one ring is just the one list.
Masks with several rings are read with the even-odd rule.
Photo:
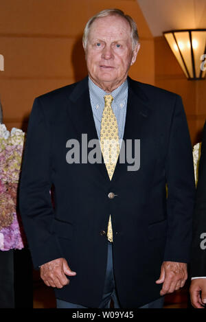
[[203, 130], [201, 159], [193, 218], [190, 296], [194, 308], [206, 304], [206, 122]]

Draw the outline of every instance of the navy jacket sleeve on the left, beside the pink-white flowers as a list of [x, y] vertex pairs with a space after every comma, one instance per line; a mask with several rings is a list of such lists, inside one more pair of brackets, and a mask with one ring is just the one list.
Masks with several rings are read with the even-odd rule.
[[19, 187], [19, 209], [34, 268], [62, 257], [58, 241], [52, 233], [54, 209], [50, 195], [50, 145], [49, 125], [39, 98], [36, 98], [27, 128]]

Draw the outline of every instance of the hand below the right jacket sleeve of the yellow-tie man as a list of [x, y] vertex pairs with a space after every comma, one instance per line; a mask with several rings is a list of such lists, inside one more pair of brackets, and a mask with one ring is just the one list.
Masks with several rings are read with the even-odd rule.
[[187, 279], [187, 264], [179, 262], [163, 262], [161, 265], [161, 273], [156, 283], [163, 286], [160, 295], [172, 293], [179, 290], [185, 285]]

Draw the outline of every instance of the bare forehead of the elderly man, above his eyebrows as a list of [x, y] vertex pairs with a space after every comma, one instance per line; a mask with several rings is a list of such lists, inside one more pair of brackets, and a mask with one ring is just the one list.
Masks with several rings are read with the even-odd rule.
[[89, 38], [122, 38], [127, 39], [131, 35], [130, 25], [122, 16], [105, 16], [93, 21]]

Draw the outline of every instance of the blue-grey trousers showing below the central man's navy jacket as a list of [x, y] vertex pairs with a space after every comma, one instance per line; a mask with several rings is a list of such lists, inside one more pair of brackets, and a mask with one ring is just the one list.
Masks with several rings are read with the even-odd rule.
[[[117, 293], [116, 293], [115, 277], [113, 274], [113, 246], [111, 242], [108, 242], [108, 255], [107, 255], [104, 292], [103, 292], [102, 301], [98, 308], [111, 308], [111, 301], [113, 301], [112, 303], [113, 308], [121, 308], [117, 297]], [[141, 308], [162, 308], [163, 301], [164, 301], [164, 298], [161, 297], [156, 301], [147, 303], [145, 306], [141, 306]], [[57, 308], [87, 308], [86, 306], [81, 306], [79, 304], [62, 301], [60, 299], [56, 299], [56, 307]]]

